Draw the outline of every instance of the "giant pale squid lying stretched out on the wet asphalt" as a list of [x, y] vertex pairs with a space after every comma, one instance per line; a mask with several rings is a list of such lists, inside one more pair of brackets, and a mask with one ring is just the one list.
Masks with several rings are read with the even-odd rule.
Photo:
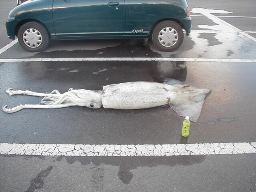
[[14, 90], [9, 88], [6, 92], [12, 96], [24, 94], [44, 97], [40, 104], [22, 104], [13, 108], [3, 106], [6, 113], [14, 113], [24, 108], [64, 108], [70, 106], [86, 106], [96, 109], [143, 109], [169, 104], [180, 116], [190, 116], [196, 121], [202, 110], [204, 99], [211, 89], [196, 88], [178, 80], [166, 78], [163, 83], [157, 82], [126, 82], [103, 86], [101, 90], [74, 90], [61, 94], [58, 90], [50, 93], [38, 93], [29, 90]]

